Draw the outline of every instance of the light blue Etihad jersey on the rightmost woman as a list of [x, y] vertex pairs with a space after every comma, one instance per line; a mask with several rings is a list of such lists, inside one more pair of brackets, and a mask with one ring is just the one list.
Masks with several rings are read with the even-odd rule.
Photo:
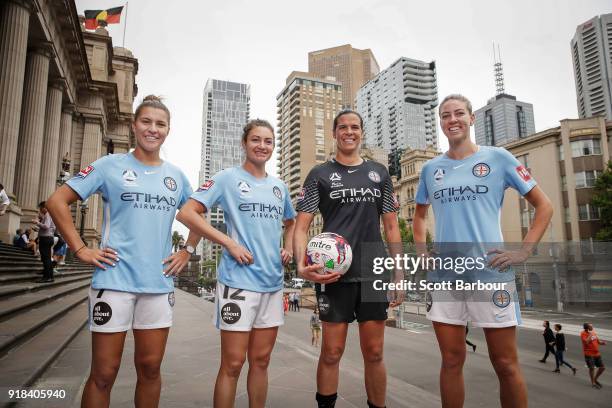
[[[436, 243], [443, 243], [454, 256], [483, 256], [502, 246], [505, 190], [512, 187], [525, 195], [535, 185], [527, 169], [507, 150], [479, 146], [463, 160], [444, 154], [428, 161], [421, 172], [416, 202], [433, 207]], [[514, 273], [485, 269], [477, 272], [477, 278], [505, 282], [514, 280]]]

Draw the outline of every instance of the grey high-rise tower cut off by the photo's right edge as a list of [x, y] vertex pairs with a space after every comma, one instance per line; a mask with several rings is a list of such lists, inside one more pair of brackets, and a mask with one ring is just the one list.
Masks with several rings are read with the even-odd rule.
[[612, 120], [612, 13], [579, 25], [571, 48], [578, 115]]

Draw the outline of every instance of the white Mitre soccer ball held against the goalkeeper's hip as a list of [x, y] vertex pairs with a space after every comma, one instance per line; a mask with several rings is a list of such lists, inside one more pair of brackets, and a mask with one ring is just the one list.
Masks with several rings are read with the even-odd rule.
[[353, 251], [344, 237], [324, 232], [308, 242], [306, 257], [308, 265], [323, 265], [323, 274], [338, 272], [344, 275], [353, 261]]

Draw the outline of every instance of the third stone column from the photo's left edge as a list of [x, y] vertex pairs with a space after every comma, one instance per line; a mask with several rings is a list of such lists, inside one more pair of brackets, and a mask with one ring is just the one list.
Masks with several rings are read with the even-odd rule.
[[59, 175], [57, 149], [60, 138], [60, 118], [62, 115], [62, 97], [64, 84], [53, 81], [47, 88], [47, 105], [45, 108], [45, 130], [43, 136], [42, 156], [40, 158], [40, 184], [38, 201], [45, 201], [55, 191]]

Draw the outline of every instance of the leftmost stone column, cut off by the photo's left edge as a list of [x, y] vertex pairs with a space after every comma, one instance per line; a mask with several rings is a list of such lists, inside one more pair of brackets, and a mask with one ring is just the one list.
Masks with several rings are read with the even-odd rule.
[[12, 195], [31, 8], [27, 1], [3, 3], [0, 7], [0, 182]]

